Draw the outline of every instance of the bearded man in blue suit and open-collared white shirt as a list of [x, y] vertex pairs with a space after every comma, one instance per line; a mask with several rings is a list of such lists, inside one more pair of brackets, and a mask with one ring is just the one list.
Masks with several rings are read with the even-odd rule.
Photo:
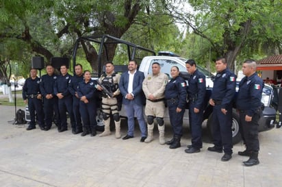
[[144, 80], [144, 73], [137, 70], [137, 63], [130, 60], [128, 64], [128, 72], [123, 73], [120, 77], [119, 88], [123, 95], [123, 105], [127, 113], [127, 136], [123, 140], [133, 138], [134, 136], [134, 114], [136, 114], [140, 131], [140, 142], [146, 139], [146, 123], [143, 114], [144, 93], [142, 91], [142, 82]]

